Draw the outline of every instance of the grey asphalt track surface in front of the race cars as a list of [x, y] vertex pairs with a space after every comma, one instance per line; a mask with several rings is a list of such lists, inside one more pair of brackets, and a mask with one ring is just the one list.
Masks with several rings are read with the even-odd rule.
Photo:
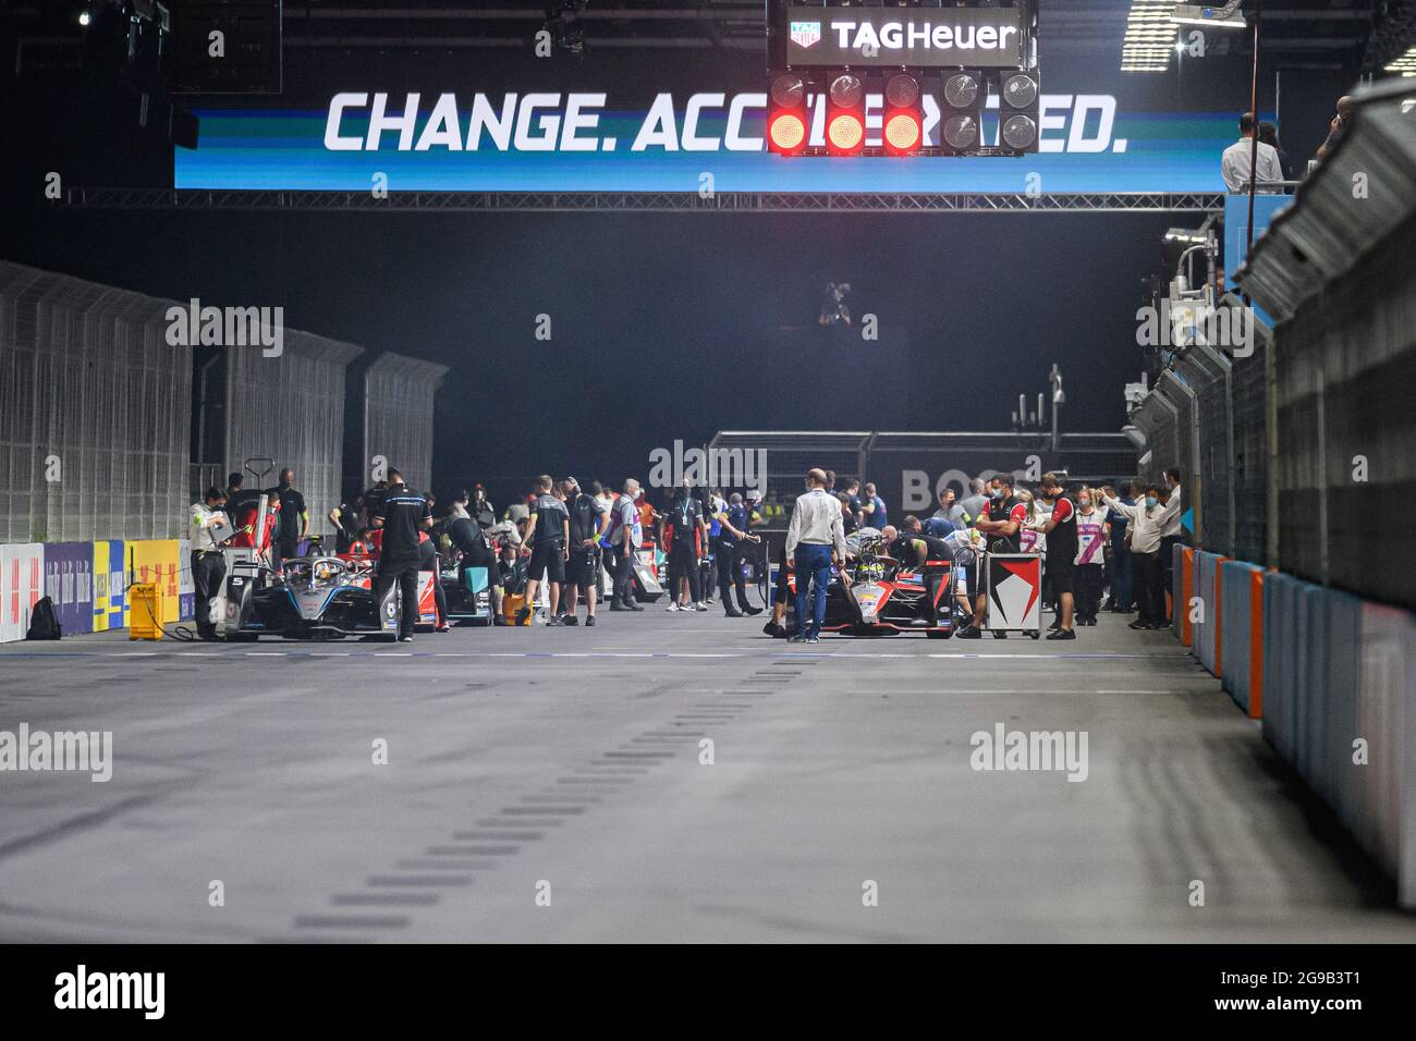
[[[0, 940], [1416, 939], [1168, 633], [1079, 633], [8, 644], [0, 729], [112, 731], [113, 778], [0, 773]], [[1000, 722], [1087, 779], [973, 770]]]

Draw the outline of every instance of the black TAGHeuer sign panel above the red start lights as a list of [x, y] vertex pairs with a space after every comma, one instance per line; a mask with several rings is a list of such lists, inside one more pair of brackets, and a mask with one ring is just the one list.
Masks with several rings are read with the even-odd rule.
[[1021, 68], [1021, 7], [787, 7], [792, 67]]

